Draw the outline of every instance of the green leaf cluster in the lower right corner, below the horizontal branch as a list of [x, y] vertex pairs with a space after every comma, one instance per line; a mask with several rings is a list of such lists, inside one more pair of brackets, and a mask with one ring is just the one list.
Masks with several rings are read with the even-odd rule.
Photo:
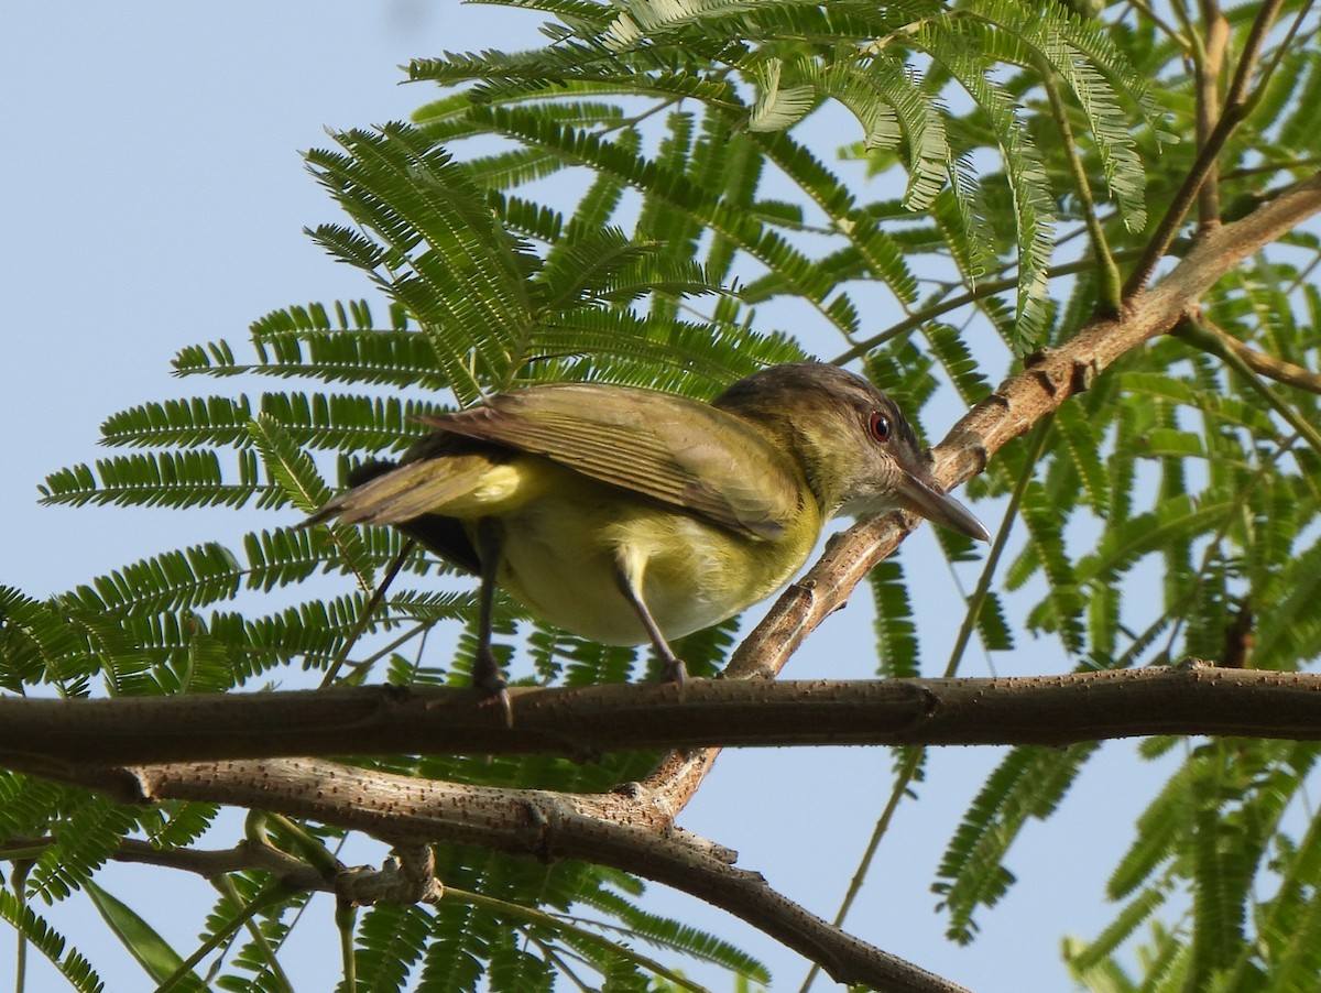
[[[1313, 984], [1321, 964], [1318, 827], [1312, 819], [1295, 840], [1284, 819], [1304, 796], [1317, 757], [1312, 742], [1226, 739], [1193, 750], [1143, 815], [1137, 841], [1111, 879], [1112, 895], [1131, 898], [1127, 907], [1094, 942], [1070, 945], [1074, 973], [1122, 975], [1116, 949], [1147, 923], [1155, 935], [1144, 944], [1148, 957], [1161, 945], [1181, 953], [1184, 985], [1161, 989]], [[1155, 915], [1176, 901], [1192, 906], [1170, 934]]]

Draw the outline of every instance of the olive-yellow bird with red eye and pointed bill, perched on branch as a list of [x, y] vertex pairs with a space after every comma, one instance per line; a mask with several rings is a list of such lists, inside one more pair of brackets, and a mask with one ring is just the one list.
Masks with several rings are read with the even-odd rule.
[[832, 518], [902, 508], [989, 540], [894, 401], [828, 363], [768, 366], [709, 403], [550, 383], [419, 420], [433, 430], [398, 463], [365, 462], [304, 524], [392, 526], [477, 574], [473, 681], [510, 722], [497, 586], [583, 638], [650, 642], [682, 685], [670, 640], [786, 585]]

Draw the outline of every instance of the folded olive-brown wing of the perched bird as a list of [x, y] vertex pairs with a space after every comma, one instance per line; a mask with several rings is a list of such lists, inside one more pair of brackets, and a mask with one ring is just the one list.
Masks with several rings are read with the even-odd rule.
[[803, 499], [793, 465], [745, 421], [654, 390], [556, 383], [424, 423], [544, 456], [754, 537], [777, 537]]

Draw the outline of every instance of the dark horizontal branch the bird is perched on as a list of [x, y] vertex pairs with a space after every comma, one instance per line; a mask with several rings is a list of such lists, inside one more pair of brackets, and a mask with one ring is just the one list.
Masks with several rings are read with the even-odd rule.
[[1321, 739], [1321, 676], [1199, 663], [1012, 679], [692, 680], [682, 699], [672, 684], [511, 697], [511, 729], [468, 689], [4, 699], [0, 763], [65, 779], [83, 767], [345, 753], [583, 761], [621, 749]]

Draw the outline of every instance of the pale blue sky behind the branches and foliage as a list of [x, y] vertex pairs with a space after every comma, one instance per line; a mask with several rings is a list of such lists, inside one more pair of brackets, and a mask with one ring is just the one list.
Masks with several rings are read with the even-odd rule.
[[[108, 415], [229, 388], [172, 378], [169, 359], [180, 347], [242, 342], [254, 318], [288, 304], [369, 296], [357, 272], [332, 264], [301, 232], [339, 215], [299, 152], [322, 144], [326, 127], [404, 118], [432, 98], [431, 88], [399, 85], [410, 57], [534, 45], [539, 20], [454, 0], [5, 5], [0, 582], [44, 596], [147, 555], [234, 541], [280, 523], [251, 507], [44, 508], [36, 486], [103, 454], [98, 425]], [[922, 633], [939, 643], [950, 634], [941, 603], [952, 594], [943, 566], [933, 565], [930, 577], [918, 568], [923, 557], [937, 561], [929, 541], [919, 532], [902, 556], [926, 599]], [[869, 675], [864, 601], [860, 593], [832, 618], [787, 675]], [[1067, 668], [1053, 643], [1025, 643], [999, 664], [1007, 675]], [[1012, 860], [1021, 885], [982, 916], [979, 942], [959, 949], [942, 940], [927, 886], [997, 757], [988, 749], [933, 754], [922, 802], [901, 807], [848, 927], [979, 993], [1067, 989], [1058, 939], [1065, 931], [1091, 936], [1110, 919], [1102, 873], [1157, 778], [1136, 765], [1131, 745], [1107, 746], [1066, 812], [1028, 829]], [[831, 916], [889, 794], [890, 769], [881, 749], [727, 753], [680, 824], [737, 849], [742, 866]], [[159, 870], [118, 870], [107, 879], [137, 907], [155, 902], [147, 916], [180, 951], [192, 949], [211, 899], [203, 885], [181, 886]], [[775, 989], [798, 988], [806, 967], [797, 956], [724, 914], [653, 889], [658, 912], [741, 943], [771, 965]], [[75, 899], [52, 916], [111, 989], [143, 988], [136, 965], [78, 906]], [[322, 988], [334, 967], [325, 955], [329, 902], [314, 902], [300, 927], [305, 949], [291, 973], [300, 989]], [[0, 942], [0, 985], [11, 948], [9, 939]]]

